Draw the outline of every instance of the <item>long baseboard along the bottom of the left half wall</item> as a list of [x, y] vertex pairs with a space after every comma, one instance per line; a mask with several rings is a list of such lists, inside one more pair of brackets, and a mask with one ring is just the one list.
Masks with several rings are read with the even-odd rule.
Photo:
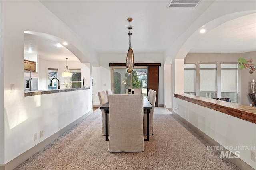
[[51, 135], [50, 137], [44, 139], [44, 141], [38, 143], [36, 146], [32, 147], [31, 149], [29, 149], [26, 152], [22, 153], [21, 155], [17, 156], [16, 158], [11, 160], [7, 164], [0, 165], [0, 170], [13, 170], [14, 168], [16, 168], [17, 166], [22, 164], [22, 162], [24, 162], [25, 160], [27, 160], [28, 158], [33, 156], [36, 152], [38, 152], [39, 150], [43, 149], [46, 145], [48, 145], [49, 143], [51, 143], [52, 141], [57, 139], [60, 135], [62, 135], [66, 131], [68, 131], [68, 129], [70, 129], [71, 127], [73, 127], [74, 125], [76, 125], [77, 123], [82, 121], [84, 118], [86, 118], [87, 116], [92, 114], [92, 112], [93, 112], [93, 110], [91, 110], [88, 113], [84, 114], [82, 117], [76, 119], [75, 121], [73, 121], [72, 123], [67, 125], [66, 127], [63, 127], [58, 132], [56, 132], [53, 135]]

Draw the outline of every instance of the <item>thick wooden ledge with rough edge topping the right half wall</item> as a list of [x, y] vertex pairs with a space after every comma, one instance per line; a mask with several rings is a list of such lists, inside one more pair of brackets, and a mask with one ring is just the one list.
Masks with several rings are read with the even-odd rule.
[[174, 97], [256, 124], [256, 107], [204, 98], [190, 94], [174, 94]]

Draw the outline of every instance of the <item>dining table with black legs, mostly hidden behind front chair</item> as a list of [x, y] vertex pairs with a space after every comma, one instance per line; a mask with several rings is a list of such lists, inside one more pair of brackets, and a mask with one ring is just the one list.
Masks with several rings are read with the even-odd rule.
[[[109, 113], [109, 102], [106, 104], [103, 104], [100, 107], [100, 109], [105, 110], [105, 119], [106, 119], [106, 121], [105, 121], [106, 134], [105, 135], [106, 135], [106, 141], [108, 141], [108, 114], [111, 114], [111, 113]], [[143, 97], [143, 109], [144, 109], [144, 114], [147, 114], [147, 139], [144, 139], [144, 141], [149, 141], [149, 113], [150, 113], [150, 110], [153, 109], [153, 107], [152, 107], [151, 103], [148, 101], [148, 99], [146, 98], [146, 96]]]

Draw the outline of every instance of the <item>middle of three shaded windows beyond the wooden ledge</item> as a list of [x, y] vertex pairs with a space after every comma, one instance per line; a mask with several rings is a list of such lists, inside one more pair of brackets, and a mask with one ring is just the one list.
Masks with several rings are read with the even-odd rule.
[[217, 93], [217, 64], [200, 63], [200, 96], [215, 98]]

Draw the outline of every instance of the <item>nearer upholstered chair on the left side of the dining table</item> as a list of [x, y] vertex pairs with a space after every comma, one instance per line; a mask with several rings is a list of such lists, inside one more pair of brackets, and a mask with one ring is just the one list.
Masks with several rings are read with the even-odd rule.
[[[100, 107], [106, 103], [108, 103], [108, 98], [105, 91], [98, 92], [99, 100], [100, 100]], [[105, 130], [105, 122], [106, 122], [106, 116], [105, 116], [105, 110], [101, 110], [102, 113], [102, 135], [106, 135]], [[109, 134], [109, 115], [108, 115], [108, 134]]]

